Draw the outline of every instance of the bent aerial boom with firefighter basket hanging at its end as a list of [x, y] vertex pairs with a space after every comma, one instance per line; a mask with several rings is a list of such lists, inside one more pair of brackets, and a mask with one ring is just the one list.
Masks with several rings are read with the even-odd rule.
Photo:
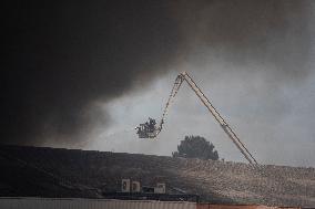
[[177, 75], [174, 82], [173, 88], [171, 91], [171, 94], [169, 96], [169, 100], [166, 102], [165, 108], [163, 111], [163, 115], [162, 115], [159, 126], [158, 127], [155, 126], [156, 123], [154, 119], [149, 118], [149, 123], [146, 122], [145, 124], [140, 124], [140, 126], [136, 127], [139, 137], [154, 138], [160, 134], [160, 132], [162, 130], [165, 117], [167, 115], [169, 107], [171, 103], [173, 102], [175, 95], [177, 94], [183, 81], [185, 81], [190, 85], [190, 87], [194, 91], [194, 93], [197, 95], [197, 97], [201, 100], [204, 106], [213, 115], [215, 121], [220, 124], [222, 129], [226, 133], [226, 135], [234, 143], [234, 145], [238, 148], [238, 150], [243, 154], [243, 156], [248, 160], [248, 163], [257, 164], [256, 159], [248, 151], [245, 145], [241, 142], [241, 139], [237, 137], [235, 132], [233, 132], [233, 129], [228, 126], [228, 124], [223, 119], [220, 113], [215, 109], [215, 107], [211, 104], [211, 102], [207, 100], [207, 97], [204, 95], [201, 88], [196, 85], [196, 83], [192, 80], [192, 77], [186, 72], [182, 72]]

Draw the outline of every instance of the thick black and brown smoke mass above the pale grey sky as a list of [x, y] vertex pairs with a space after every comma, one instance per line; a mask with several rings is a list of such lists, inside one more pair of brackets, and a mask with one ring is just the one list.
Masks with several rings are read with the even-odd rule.
[[40, 144], [51, 135], [78, 139], [109, 122], [99, 102], [124, 94], [135, 83], [148, 84], [177, 58], [197, 62], [190, 56], [192, 49], [196, 54], [217, 50], [226, 61], [241, 64], [243, 58], [261, 59], [275, 63], [281, 73], [299, 74], [296, 70], [307, 69], [309, 59], [308, 4], [274, 0], [7, 6], [1, 143]]

